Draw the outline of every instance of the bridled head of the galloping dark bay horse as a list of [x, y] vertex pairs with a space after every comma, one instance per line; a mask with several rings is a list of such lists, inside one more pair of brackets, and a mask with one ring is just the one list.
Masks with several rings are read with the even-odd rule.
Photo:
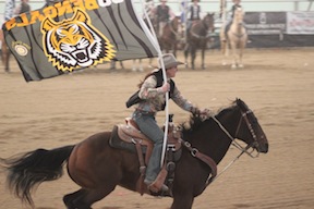
[[258, 152], [266, 153], [268, 140], [253, 111], [241, 99], [237, 99], [235, 104], [234, 108], [240, 112], [240, 120], [234, 137], [246, 143], [247, 148], [252, 147]]

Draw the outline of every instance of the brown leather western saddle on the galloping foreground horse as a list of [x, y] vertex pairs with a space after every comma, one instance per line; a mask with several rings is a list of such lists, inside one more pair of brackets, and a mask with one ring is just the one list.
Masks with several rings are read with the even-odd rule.
[[[171, 183], [173, 182], [174, 168], [176, 168], [176, 163], [173, 161], [179, 160], [181, 156], [180, 139], [181, 139], [181, 132], [177, 127], [174, 127], [172, 123], [169, 124], [167, 149], [166, 149], [167, 150], [166, 163], [165, 167], [161, 168], [161, 171], [158, 174], [156, 181], [150, 185], [149, 188], [156, 195], [160, 190], [166, 179], [168, 181], [168, 184], [169, 182]], [[154, 143], [143, 133], [141, 133], [135, 121], [133, 121], [131, 118], [126, 118], [125, 124], [114, 125], [111, 137], [109, 139], [109, 144], [111, 147], [114, 148], [137, 152], [140, 161], [140, 173], [141, 173], [140, 180], [137, 181], [137, 192], [140, 192], [141, 195], [143, 195], [145, 192], [143, 182], [146, 171], [146, 164], [148, 163], [149, 158], [152, 156]], [[167, 195], [171, 196], [171, 194]]]

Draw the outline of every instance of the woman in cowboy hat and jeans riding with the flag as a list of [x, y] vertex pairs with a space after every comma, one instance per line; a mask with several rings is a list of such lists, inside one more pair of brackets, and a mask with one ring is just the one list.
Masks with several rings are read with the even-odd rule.
[[[185, 111], [203, 114], [205, 111], [200, 111], [198, 108], [193, 106], [189, 100], [184, 99], [180, 90], [171, 79], [178, 72], [178, 65], [183, 62], [177, 61], [172, 53], [162, 56], [167, 82], [162, 84], [162, 70], [156, 69], [147, 74], [144, 81], [138, 85], [138, 97], [141, 101], [136, 104], [132, 119], [138, 125], [141, 132], [150, 138], [154, 143], [152, 157], [149, 159], [146, 176], [144, 183], [148, 186], [154, 183], [158, 173], [160, 172], [160, 159], [164, 145], [164, 131], [156, 122], [156, 113], [165, 110], [166, 93], [169, 91], [169, 98], [172, 99], [180, 108]], [[161, 66], [160, 60], [159, 65]], [[162, 185], [162, 190], [168, 190], [166, 185]]]

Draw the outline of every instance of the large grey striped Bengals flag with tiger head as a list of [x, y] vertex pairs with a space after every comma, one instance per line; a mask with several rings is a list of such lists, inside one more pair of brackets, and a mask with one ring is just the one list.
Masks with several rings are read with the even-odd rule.
[[158, 42], [132, 0], [64, 0], [15, 16], [2, 29], [27, 82], [158, 57]]

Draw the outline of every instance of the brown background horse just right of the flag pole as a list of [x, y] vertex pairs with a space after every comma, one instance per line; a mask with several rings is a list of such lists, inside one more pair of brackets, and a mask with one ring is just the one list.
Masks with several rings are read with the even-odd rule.
[[160, 48], [166, 53], [171, 51], [174, 56], [177, 53], [177, 45], [180, 38], [180, 17], [173, 17], [169, 23], [162, 28], [162, 36], [158, 38]]

